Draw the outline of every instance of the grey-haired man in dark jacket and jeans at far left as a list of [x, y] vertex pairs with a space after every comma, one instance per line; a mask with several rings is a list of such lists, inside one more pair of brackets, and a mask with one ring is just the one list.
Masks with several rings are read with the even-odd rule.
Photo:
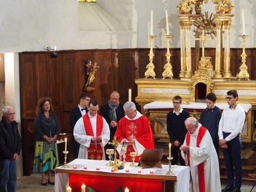
[[16, 160], [21, 152], [21, 137], [12, 107], [2, 109], [0, 121], [0, 191], [16, 191]]

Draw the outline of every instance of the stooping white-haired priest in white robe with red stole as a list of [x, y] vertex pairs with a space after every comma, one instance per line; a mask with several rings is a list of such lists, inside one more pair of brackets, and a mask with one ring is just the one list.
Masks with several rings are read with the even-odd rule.
[[193, 191], [221, 191], [219, 161], [209, 131], [194, 117], [185, 120], [185, 127], [188, 132], [180, 150], [184, 158], [187, 153]]

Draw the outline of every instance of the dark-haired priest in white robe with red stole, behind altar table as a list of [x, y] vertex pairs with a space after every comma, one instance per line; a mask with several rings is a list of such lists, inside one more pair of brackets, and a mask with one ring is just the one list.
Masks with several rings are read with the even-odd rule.
[[105, 160], [104, 146], [109, 142], [109, 124], [97, 114], [99, 105], [96, 100], [88, 103], [89, 113], [77, 120], [74, 138], [80, 144], [78, 158]]

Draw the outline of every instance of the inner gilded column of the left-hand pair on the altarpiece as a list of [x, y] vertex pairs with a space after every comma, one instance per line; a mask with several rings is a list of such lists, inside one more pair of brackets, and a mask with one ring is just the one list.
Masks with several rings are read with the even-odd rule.
[[185, 22], [185, 77], [190, 78], [191, 71], [191, 46], [190, 46], [190, 26], [192, 22], [190, 20]]

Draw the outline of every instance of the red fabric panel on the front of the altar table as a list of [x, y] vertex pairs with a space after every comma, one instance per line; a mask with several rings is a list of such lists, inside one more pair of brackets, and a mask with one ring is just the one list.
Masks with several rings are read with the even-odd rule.
[[162, 191], [162, 180], [69, 174], [69, 186], [72, 192], [80, 192], [82, 183], [97, 192], [114, 192], [120, 187], [122, 191], [126, 187], [129, 191]]

